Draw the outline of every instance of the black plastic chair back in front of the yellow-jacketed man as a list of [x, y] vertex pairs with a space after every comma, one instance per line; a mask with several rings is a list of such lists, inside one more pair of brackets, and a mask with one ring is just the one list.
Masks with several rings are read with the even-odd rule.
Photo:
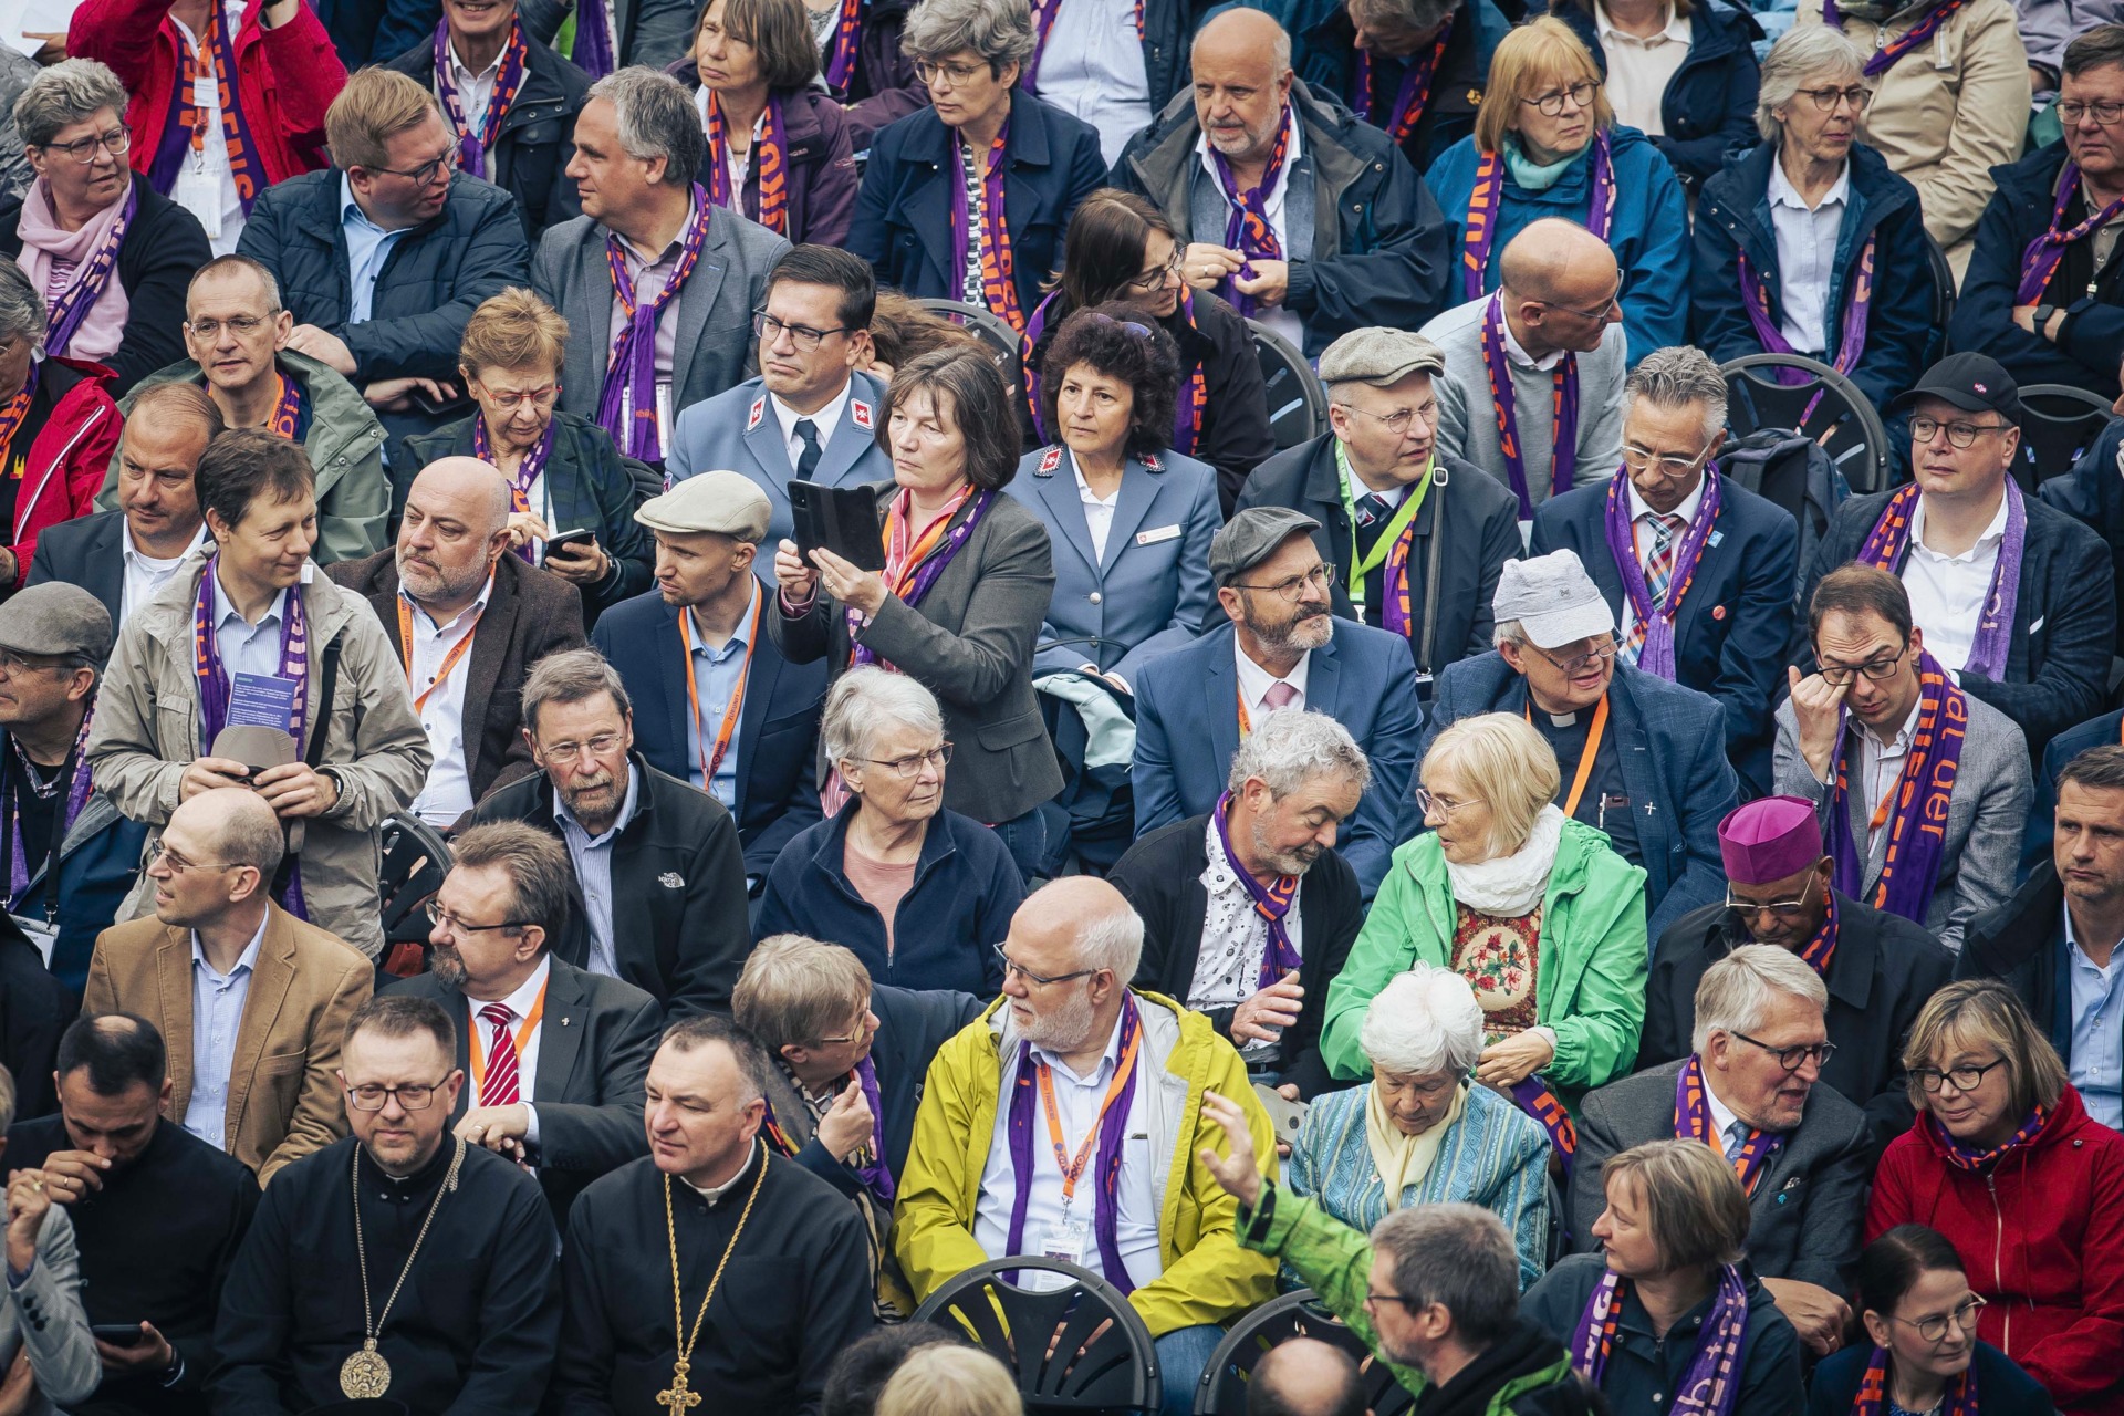
[[[1005, 1278], [1034, 1270], [1070, 1282], [1034, 1291]], [[1119, 1289], [1075, 1263], [1028, 1255], [977, 1263], [930, 1293], [915, 1323], [956, 1327], [1003, 1361], [1030, 1416], [1155, 1412], [1164, 1401], [1151, 1329]]]

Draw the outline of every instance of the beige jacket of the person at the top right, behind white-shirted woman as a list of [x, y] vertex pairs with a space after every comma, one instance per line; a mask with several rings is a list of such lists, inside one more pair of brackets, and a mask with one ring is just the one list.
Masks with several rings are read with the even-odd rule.
[[[1907, 4], [1886, 25], [1846, 15], [1844, 32], [1873, 53], [1901, 38], [1933, 0]], [[1820, 0], [1799, 0], [1799, 23], [1818, 23]], [[1918, 189], [1924, 229], [1948, 253], [1954, 282], [1969, 270], [1990, 170], [2020, 157], [2028, 132], [2028, 51], [2009, 0], [1969, 0], [1929, 45], [1869, 81], [1861, 136]]]

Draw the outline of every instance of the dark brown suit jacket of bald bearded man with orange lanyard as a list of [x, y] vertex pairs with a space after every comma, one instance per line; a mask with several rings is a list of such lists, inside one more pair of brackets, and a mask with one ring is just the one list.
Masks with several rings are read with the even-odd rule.
[[[404, 656], [397, 552], [380, 550], [363, 560], [340, 560], [325, 567], [325, 575], [370, 603], [382, 620], [384, 635]], [[580, 650], [584, 643], [582, 597], [576, 594], [576, 586], [516, 556], [501, 556], [495, 563], [495, 588], [472, 633], [472, 654], [463, 667], [469, 758], [465, 775], [472, 779], [474, 802], [495, 788], [537, 773], [520, 730], [525, 677], [548, 654]]]

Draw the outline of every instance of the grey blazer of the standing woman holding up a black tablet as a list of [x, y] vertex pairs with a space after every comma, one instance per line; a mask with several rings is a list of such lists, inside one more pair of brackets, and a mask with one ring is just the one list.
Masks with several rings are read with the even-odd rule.
[[[884, 507], [898, 488], [879, 482], [873, 490]], [[958, 510], [954, 526], [966, 520], [973, 501]], [[1062, 790], [1032, 692], [1032, 643], [1054, 588], [1045, 526], [998, 493], [920, 607], [888, 594], [877, 618], [862, 626], [860, 641], [877, 658], [937, 694], [943, 735], [954, 745], [943, 805], [975, 822], [1011, 822]], [[835, 677], [854, 652], [847, 614], [824, 588], [796, 616], [775, 594], [767, 633], [790, 662], [824, 658]], [[822, 777], [824, 769], [822, 743]]]

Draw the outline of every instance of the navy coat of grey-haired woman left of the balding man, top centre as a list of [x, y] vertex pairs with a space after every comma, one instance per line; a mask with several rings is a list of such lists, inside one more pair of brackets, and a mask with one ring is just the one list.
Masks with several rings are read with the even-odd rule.
[[[847, 248], [871, 263], [879, 284], [915, 299], [964, 299], [962, 272], [952, 265], [954, 149], [958, 134], [935, 108], [909, 113], [879, 129], [856, 193]], [[1098, 129], [1030, 93], [1011, 96], [1003, 144], [1003, 212], [1011, 229], [1017, 306], [1028, 316], [1047, 278], [1062, 270], [1062, 236], [1077, 204], [1098, 191], [1107, 163]]]

